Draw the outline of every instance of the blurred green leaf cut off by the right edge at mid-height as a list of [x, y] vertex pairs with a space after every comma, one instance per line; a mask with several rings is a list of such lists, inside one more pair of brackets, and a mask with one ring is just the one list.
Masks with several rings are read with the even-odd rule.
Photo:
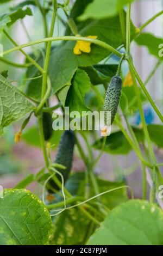
[[151, 140], [158, 145], [159, 148], [163, 148], [163, 125], [150, 124], [147, 126]]

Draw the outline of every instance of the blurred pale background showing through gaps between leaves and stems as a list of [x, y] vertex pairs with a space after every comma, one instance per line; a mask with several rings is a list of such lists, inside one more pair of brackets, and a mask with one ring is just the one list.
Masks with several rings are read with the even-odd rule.
[[[15, 4], [22, 1], [11, 1], [1, 5], [1, 13], [7, 13], [10, 7], [14, 7]], [[62, 1], [60, 1], [62, 2]], [[70, 1], [73, 5], [73, 1]], [[147, 21], [154, 14], [158, 13], [163, 8], [162, 0], [142, 0], [133, 4], [132, 20], [136, 27], [140, 27], [145, 21]], [[31, 9], [34, 13], [33, 16], [26, 16], [23, 21], [18, 20], [12, 27], [8, 28], [8, 32], [18, 44], [23, 44], [29, 40], [36, 40], [43, 38], [43, 26], [41, 27], [41, 14], [40, 11], [31, 5]], [[143, 10], [143, 11], [142, 11]], [[48, 14], [48, 19], [51, 19], [51, 14]], [[62, 21], [66, 20], [66, 17], [62, 10], [59, 11], [57, 22], [55, 25], [54, 35], [64, 35], [65, 28], [62, 25]], [[145, 31], [153, 33], [156, 36], [163, 36], [163, 18], [158, 17], [154, 22], [147, 26]], [[4, 49], [12, 47], [11, 42], [2, 33], [0, 35], [0, 42], [3, 44]], [[59, 42], [53, 42], [53, 45], [59, 44]], [[42, 45], [34, 46], [33, 48], [26, 48], [26, 51], [30, 53], [31, 50], [36, 51], [37, 48], [42, 48]], [[143, 81], [146, 81], [148, 75], [153, 70], [154, 66], [158, 63], [158, 60], [149, 56], [146, 47], [140, 47], [136, 43], [131, 44], [131, 51], [133, 53], [134, 64], [139, 72]], [[9, 60], [22, 63], [24, 60], [23, 55], [20, 52], [11, 53], [7, 56]], [[117, 63], [118, 59], [112, 57], [109, 62]], [[148, 90], [151, 93], [154, 101], [163, 112], [163, 66], [158, 64], [158, 69], [155, 71], [153, 78], [148, 83]], [[12, 68], [11, 66], [1, 62], [0, 60], [0, 72], [8, 70], [8, 78], [13, 81], [20, 89], [23, 89], [26, 85], [23, 78], [26, 77], [26, 70]], [[123, 65], [123, 76], [128, 73], [128, 66], [126, 63]], [[14, 82], [15, 80], [18, 80]], [[148, 124], [159, 123], [159, 120], [155, 117], [152, 108], [147, 104], [145, 105], [145, 114]], [[131, 122], [140, 125], [139, 113], [136, 113]], [[21, 179], [28, 174], [35, 174], [43, 167], [43, 157], [40, 150], [39, 136], [37, 135], [37, 127], [35, 125], [35, 118], [30, 120], [27, 129], [23, 132], [23, 137], [20, 143], [14, 143], [14, 135], [20, 129], [21, 121], [9, 126], [4, 131], [4, 136], [0, 138], [0, 185], [5, 187], [14, 187]], [[54, 132], [52, 143], [54, 144], [53, 155], [55, 155], [55, 149], [58, 145], [61, 132]], [[90, 142], [91, 143], [91, 142]], [[158, 162], [162, 162], [163, 150], [155, 147], [155, 153], [158, 157]], [[98, 150], [95, 150], [95, 155], [98, 155]], [[73, 171], [80, 172], [84, 170], [84, 164], [76, 154], [73, 162]], [[135, 197], [141, 196], [141, 169], [139, 168], [139, 162], [133, 152], [128, 155], [116, 155], [104, 153], [101, 161], [97, 164], [95, 172], [101, 177], [108, 180], [123, 180], [126, 179], [128, 185], [130, 185], [135, 192]], [[124, 177], [125, 175], [125, 177]], [[40, 187], [33, 183], [29, 186], [30, 190], [39, 194]]]

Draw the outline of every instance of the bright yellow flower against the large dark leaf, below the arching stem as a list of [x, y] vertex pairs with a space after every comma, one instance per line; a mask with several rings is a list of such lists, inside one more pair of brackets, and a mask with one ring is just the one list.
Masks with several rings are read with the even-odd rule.
[[[86, 38], [97, 39], [96, 35], [89, 35]], [[91, 52], [91, 42], [77, 41], [75, 47], [73, 48], [73, 53], [76, 55], [82, 54], [82, 52]]]

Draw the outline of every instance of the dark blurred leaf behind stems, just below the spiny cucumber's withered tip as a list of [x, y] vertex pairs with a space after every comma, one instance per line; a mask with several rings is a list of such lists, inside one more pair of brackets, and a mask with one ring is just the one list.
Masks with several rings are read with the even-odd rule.
[[[143, 140], [143, 131], [137, 127], [133, 127], [135, 136], [139, 142]], [[93, 144], [93, 148], [100, 150], [102, 148], [103, 138]], [[121, 131], [112, 132], [106, 138], [104, 152], [115, 155], [127, 155], [131, 151], [131, 146]]]

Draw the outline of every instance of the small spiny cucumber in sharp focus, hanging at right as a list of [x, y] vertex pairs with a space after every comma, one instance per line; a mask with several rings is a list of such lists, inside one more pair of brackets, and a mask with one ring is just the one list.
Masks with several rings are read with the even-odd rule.
[[[120, 102], [122, 90], [122, 79], [120, 76], [112, 77], [108, 89], [106, 90], [104, 112], [105, 112], [105, 125], [112, 125], [117, 112], [118, 104]], [[110, 111], [110, 120], [106, 119], [106, 111]]]

